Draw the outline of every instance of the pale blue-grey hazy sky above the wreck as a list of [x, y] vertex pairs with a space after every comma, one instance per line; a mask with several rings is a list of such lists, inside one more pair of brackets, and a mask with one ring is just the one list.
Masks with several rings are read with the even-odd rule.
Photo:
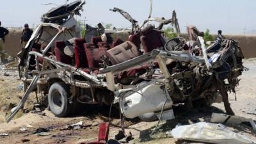
[[[69, 0], [72, 2], [74, 0]], [[68, 2], [68, 3], [69, 3]], [[20, 27], [28, 23], [30, 27], [40, 24], [40, 17], [54, 5], [65, 4], [65, 0], [1, 0], [0, 21], [4, 27]], [[116, 28], [131, 27], [129, 21], [119, 13], [109, 11], [117, 7], [130, 13], [141, 24], [148, 17], [149, 0], [86, 0], [84, 11], [77, 19], [86, 20], [87, 24], [113, 24]], [[153, 0], [152, 17], [170, 19], [175, 10], [180, 29], [196, 26], [201, 31], [209, 29], [223, 34], [256, 34], [255, 0]]]

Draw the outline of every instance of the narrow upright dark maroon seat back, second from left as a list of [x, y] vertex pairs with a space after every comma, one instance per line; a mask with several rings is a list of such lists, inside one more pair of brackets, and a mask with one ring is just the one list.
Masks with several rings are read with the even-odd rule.
[[86, 58], [86, 54], [84, 52], [84, 43], [86, 41], [84, 38], [76, 38], [74, 52], [75, 52], [75, 60], [76, 60], [76, 67], [77, 68], [86, 68], [88, 67], [88, 62]]

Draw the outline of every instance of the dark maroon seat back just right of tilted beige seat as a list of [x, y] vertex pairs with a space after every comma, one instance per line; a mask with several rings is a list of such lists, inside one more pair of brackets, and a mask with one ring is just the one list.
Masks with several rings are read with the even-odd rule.
[[154, 30], [152, 25], [143, 29], [141, 34], [140, 41], [145, 53], [150, 52], [153, 49], [157, 49], [158, 47], [164, 47], [161, 31]]

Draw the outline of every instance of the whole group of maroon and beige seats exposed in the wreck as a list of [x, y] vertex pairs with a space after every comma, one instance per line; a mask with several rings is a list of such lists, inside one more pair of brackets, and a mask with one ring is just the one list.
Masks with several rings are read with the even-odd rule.
[[[100, 68], [100, 63], [102, 63], [102, 56], [106, 56], [111, 65], [116, 65], [143, 54], [139, 49], [141, 45], [144, 53], [163, 47], [161, 32], [154, 30], [153, 26], [148, 26], [140, 33], [130, 36], [129, 41], [123, 42], [118, 38], [109, 47], [106, 47], [100, 37], [93, 37], [90, 43], [86, 43], [84, 39], [77, 38], [74, 42], [75, 64], [72, 62], [72, 58], [63, 52], [65, 42], [56, 42], [54, 52], [57, 61], [69, 65], [73, 64], [77, 68], [89, 68], [92, 71], [97, 71]], [[134, 68], [127, 72], [122, 72], [118, 77], [122, 79], [122, 77], [143, 74], [146, 69], [147, 67]], [[90, 72], [90, 70], [86, 70], [86, 72]]]

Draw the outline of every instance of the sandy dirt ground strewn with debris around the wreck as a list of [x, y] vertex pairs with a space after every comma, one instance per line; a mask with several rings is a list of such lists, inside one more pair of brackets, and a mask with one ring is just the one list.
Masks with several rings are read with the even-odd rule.
[[[231, 107], [238, 116], [244, 116], [246, 118], [252, 118], [256, 120], [256, 59], [244, 60], [244, 65], [250, 70], [244, 72], [241, 77], [239, 86], [236, 88], [236, 97], [234, 93], [229, 94]], [[1, 66], [2, 67], [2, 66]], [[4, 122], [6, 112], [13, 108], [13, 105], [17, 104], [22, 96], [22, 90], [20, 90], [20, 81], [17, 77], [17, 71], [15, 69], [3, 70], [0, 67], [0, 133], [8, 133], [8, 136], [0, 136], [0, 143], [81, 143], [97, 140], [98, 126], [100, 122], [108, 121], [108, 107], [90, 107], [84, 110], [84, 113], [78, 116], [72, 116], [68, 118], [57, 118], [52, 115], [50, 111], [45, 109], [43, 112], [45, 116], [38, 115], [37, 113], [19, 113], [14, 120], [9, 124]], [[5, 75], [5, 76], [4, 76]], [[31, 95], [28, 100], [32, 105], [35, 102], [35, 95]], [[29, 109], [29, 108], [28, 108]], [[125, 133], [132, 133], [134, 140], [131, 143], [193, 143], [191, 141], [175, 140], [167, 136], [166, 132], [171, 131], [175, 125], [185, 125], [190, 122], [209, 122], [212, 112], [224, 113], [225, 109], [223, 103], [213, 104], [207, 108], [200, 109], [184, 109], [181, 106], [173, 108], [175, 111], [175, 119], [168, 122], [161, 122], [155, 134], [150, 133], [156, 127], [157, 122], [141, 122], [138, 119], [127, 120], [125, 125]], [[110, 127], [109, 138], [113, 138], [120, 127], [120, 120], [118, 119], [118, 110], [113, 112], [113, 125]], [[76, 124], [83, 121], [82, 129], [61, 129], [66, 125]], [[115, 126], [114, 126], [115, 125]], [[27, 131], [20, 131], [20, 127], [24, 127]], [[252, 140], [256, 141], [256, 132], [246, 125], [227, 125], [233, 131], [240, 134], [244, 134]], [[49, 135], [39, 136], [36, 134], [36, 130], [44, 128], [48, 130]], [[27, 142], [22, 142], [26, 141]]]

